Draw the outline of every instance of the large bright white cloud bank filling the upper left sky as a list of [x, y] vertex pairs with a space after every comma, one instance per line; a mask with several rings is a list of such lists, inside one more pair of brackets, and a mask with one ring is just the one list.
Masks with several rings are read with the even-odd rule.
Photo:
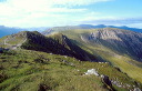
[[65, 24], [88, 12], [85, 7], [78, 9], [75, 7], [105, 1], [111, 0], [1, 0], [0, 24], [12, 27], [54, 26], [54, 22]]

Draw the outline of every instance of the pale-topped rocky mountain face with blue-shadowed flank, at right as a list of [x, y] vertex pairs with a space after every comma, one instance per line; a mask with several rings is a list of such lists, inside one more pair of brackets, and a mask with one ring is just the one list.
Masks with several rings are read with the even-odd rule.
[[83, 39], [142, 61], [142, 33], [115, 28], [103, 28], [83, 36]]

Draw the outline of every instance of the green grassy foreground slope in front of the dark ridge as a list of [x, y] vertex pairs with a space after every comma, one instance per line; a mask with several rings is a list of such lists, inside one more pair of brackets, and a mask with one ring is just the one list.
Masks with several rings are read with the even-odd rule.
[[105, 91], [100, 77], [83, 75], [92, 68], [124, 85], [135, 85], [131, 78], [109, 63], [81, 62], [70, 57], [17, 50], [0, 54], [0, 90], [38, 91], [44, 88], [55, 91]]

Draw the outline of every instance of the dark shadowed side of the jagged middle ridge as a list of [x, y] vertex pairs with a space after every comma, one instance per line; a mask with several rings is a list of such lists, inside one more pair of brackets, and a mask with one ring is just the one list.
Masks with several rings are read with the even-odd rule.
[[27, 36], [28, 40], [21, 46], [23, 49], [74, 57], [82, 61], [97, 61], [94, 55], [82, 50], [80, 47], [71, 42], [71, 40], [67, 37], [65, 39], [60, 39], [64, 40], [63, 43], [59, 43], [59, 41], [52, 38], [47, 38], [39, 33], [30, 32]]

